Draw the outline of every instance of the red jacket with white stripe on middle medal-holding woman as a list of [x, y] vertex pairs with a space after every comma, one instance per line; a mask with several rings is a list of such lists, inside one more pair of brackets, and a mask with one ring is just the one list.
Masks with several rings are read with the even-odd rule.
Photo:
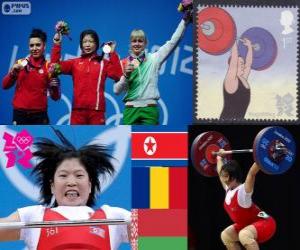
[[[54, 45], [52, 53], [60, 57], [61, 46]], [[110, 53], [110, 60], [100, 59], [95, 53], [60, 62], [62, 74], [73, 77], [73, 110], [105, 112], [105, 80], [119, 81], [123, 72], [117, 53]]]

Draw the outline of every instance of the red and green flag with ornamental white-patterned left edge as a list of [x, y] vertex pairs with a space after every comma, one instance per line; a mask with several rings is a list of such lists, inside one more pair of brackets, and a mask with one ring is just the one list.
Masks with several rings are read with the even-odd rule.
[[133, 209], [133, 250], [186, 250], [187, 209]]

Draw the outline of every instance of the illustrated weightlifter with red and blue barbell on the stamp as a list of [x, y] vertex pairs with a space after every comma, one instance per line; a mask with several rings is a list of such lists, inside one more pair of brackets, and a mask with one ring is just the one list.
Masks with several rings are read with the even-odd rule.
[[275, 61], [277, 44], [273, 35], [261, 27], [247, 29], [237, 37], [232, 16], [224, 9], [207, 7], [198, 12], [198, 46], [210, 55], [231, 49], [223, 82], [223, 109], [220, 119], [242, 119], [250, 104], [248, 78], [251, 70], [265, 70]]

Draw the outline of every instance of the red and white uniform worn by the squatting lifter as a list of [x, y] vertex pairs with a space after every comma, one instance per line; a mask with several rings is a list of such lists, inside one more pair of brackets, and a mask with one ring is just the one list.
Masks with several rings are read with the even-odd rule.
[[264, 213], [252, 202], [252, 193], [246, 193], [245, 185], [241, 184], [233, 190], [226, 190], [224, 208], [235, 223], [237, 232], [244, 227], [253, 225], [257, 231], [259, 243], [269, 240], [276, 231], [275, 220]]

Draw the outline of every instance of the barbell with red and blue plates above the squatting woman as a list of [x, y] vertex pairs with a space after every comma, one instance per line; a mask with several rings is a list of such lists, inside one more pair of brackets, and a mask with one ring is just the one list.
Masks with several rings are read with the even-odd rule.
[[213, 177], [218, 175], [218, 154], [227, 162], [231, 160], [232, 154], [239, 153], [253, 153], [254, 161], [267, 174], [282, 174], [295, 161], [296, 143], [288, 130], [275, 126], [262, 129], [256, 135], [252, 149], [232, 150], [229, 140], [223, 134], [208, 131], [194, 139], [191, 160], [200, 174]]

